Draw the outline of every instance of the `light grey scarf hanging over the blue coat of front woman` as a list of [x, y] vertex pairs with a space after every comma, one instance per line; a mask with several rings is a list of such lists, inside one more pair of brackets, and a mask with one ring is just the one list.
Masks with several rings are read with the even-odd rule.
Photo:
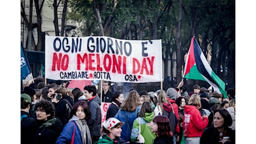
[[83, 144], [91, 144], [91, 134], [88, 125], [86, 124], [85, 120], [76, 120], [76, 125], [78, 126], [79, 130], [81, 131], [82, 142]]

